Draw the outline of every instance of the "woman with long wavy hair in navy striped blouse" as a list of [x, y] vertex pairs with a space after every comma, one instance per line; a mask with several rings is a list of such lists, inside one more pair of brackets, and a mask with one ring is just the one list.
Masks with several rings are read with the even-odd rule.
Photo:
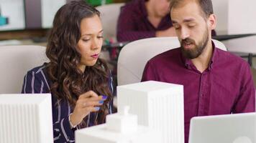
[[55, 14], [46, 55], [50, 62], [27, 72], [22, 93], [51, 93], [55, 142], [74, 142], [74, 131], [105, 122], [111, 114], [112, 80], [99, 59], [99, 11], [71, 1]]

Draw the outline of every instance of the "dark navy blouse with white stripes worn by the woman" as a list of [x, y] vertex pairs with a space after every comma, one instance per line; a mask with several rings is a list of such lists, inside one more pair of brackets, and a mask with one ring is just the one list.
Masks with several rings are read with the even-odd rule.
[[[45, 65], [35, 67], [27, 72], [24, 77], [22, 93], [50, 93], [50, 82], [44, 72]], [[113, 91], [112, 78], [109, 78], [109, 88]], [[52, 122], [53, 122], [53, 137], [54, 142], [75, 142], [75, 129], [70, 128], [69, 115], [72, 109], [67, 101], [59, 101], [55, 96], [52, 96]], [[108, 104], [109, 113], [112, 113], [112, 102]], [[93, 126], [96, 120], [96, 113], [89, 114], [88, 126]]]

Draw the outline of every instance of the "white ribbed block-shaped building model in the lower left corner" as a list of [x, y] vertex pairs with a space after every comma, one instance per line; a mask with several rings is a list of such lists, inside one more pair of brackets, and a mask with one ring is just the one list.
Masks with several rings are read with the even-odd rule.
[[53, 142], [50, 94], [0, 94], [0, 142]]

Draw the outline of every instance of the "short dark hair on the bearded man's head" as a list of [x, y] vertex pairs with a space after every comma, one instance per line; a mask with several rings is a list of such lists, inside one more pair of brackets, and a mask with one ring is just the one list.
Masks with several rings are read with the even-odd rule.
[[[186, 1], [191, 1], [191, 0], [170, 0], [170, 10], [172, 10], [179, 4], [183, 4]], [[214, 14], [214, 9], [213, 9], [211, 0], [193, 0], [193, 1], [196, 1], [198, 5], [201, 7], [201, 10], [202, 10], [201, 12], [203, 13], [204, 17], [209, 17], [211, 14]]]

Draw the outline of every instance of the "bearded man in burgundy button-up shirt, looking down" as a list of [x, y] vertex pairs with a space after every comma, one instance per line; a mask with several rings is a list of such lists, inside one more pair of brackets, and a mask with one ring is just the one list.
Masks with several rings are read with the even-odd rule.
[[216, 27], [211, 0], [171, 0], [170, 16], [180, 47], [150, 59], [142, 82], [183, 85], [185, 143], [192, 117], [255, 112], [249, 64], [211, 41]]

